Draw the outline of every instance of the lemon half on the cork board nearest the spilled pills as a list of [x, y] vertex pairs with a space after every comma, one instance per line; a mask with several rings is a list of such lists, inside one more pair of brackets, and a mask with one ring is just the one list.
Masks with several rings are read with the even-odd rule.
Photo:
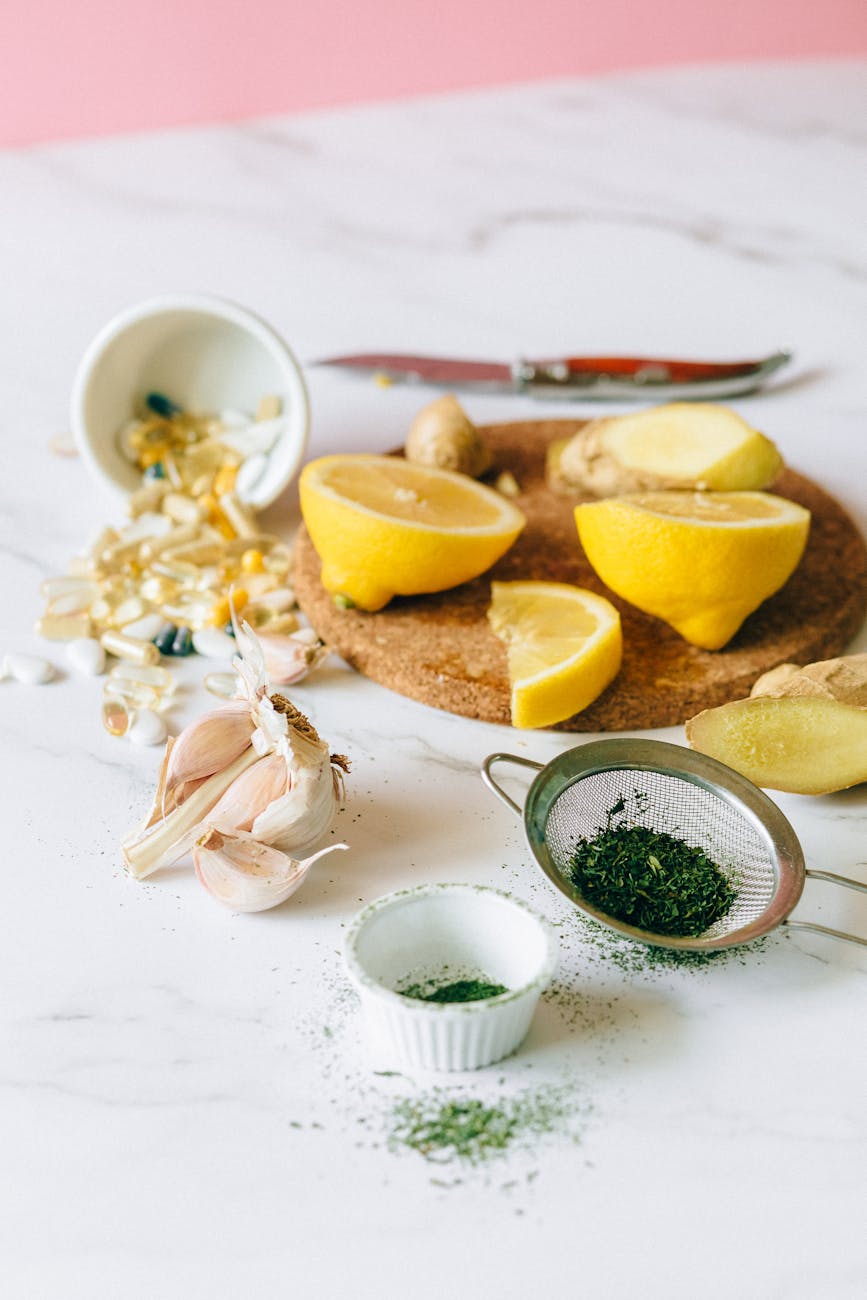
[[322, 456], [302, 471], [299, 493], [322, 585], [360, 610], [478, 577], [525, 523], [467, 474], [399, 456]]

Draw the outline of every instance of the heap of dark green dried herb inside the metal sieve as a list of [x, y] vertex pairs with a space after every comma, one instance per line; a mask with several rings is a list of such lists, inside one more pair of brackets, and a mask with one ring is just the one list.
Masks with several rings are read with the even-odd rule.
[[568, 875], [581, 896], [615, 920], [654, 935], [693, 939], [724, 916], [736, 898], [731, 881], [702, 849], [664, 831], [608, 826], [580, 840]]

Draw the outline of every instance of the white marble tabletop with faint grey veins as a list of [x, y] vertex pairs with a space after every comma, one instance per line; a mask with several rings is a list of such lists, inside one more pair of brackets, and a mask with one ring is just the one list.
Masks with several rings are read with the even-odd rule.
[[[113, 512], [47, 450], [77, 360], [168, 290], [246, 303], [303, 359], [790, 346], [792, 374], [737, 406], [867, 530], [866, 90], [854, 62], [686, 69], [0, 157], [3, 649], [45, 649], [39, 581]], [[393, 446], [426, 395], [308, 377], [312, 454]], [[290, 495], [269, 521], [295, 517]], [[185, 672], [178, 722], [207, 698]], [[863, 1295], [863, 949], [777, 933], [710, 970], [624, 974], [477, 776], [490, 750], [568, 738], [339, 663], [295, 698], [352, 757], [352, 852], [261, 916], [188, 868], [135, 884], [117, 845], [157, 754], [104, 734], [99, 696], [0, 685], [5, 1296]], [[863, 788], [779, 802], [809, 864], [867, 879]], [[387, 1149], [393, 1098], [432, 1080], [370, 1071], [341, 971], [359, 905], [428, 880], [564, 922], [563, 1001], [517, 1057], [446, 1087], [563, 1087], [573, 1122], [478, 1169]], [[867, 900], [831, 885], [797, 915], [867, 933]]]

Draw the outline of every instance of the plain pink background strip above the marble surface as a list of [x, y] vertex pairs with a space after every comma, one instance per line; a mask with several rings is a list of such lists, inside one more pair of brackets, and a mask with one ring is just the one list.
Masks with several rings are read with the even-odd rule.
[[706, 60], [867, 53], [866, 0], [22, 0], [0, 144]]

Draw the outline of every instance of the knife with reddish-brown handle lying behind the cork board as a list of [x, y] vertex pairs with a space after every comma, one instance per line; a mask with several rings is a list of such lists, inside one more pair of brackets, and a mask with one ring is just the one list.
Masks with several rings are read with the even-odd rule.
[[758, 361], [673, 361], [647, 356], [567, 356], [545, 361], [467, 361], [403, 352], [329, 356], [313, 365], [335, 365], [381, 381], [432, 384], [534, 398], [731, 398], [753, 393], [792, 360], [773, 352]]

